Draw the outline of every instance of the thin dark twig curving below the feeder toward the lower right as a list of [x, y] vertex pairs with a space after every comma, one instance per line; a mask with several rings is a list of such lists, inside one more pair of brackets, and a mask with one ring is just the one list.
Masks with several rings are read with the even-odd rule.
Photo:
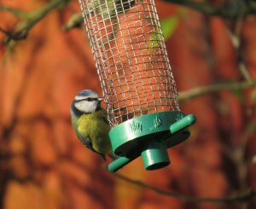
[[156, 188], [152, 185], [149, 185], [147, 183], [143, 183], [141, 181], [131, 179], [129, 177], [125, 177], [119, 173], [113, 174], [115, 177], [118, 177], [119, 179], [124, 180], [127, 183], [131, 183], [133, 185], [136, 185], [138, 187], [142, 187], [145, 189], [150, 189], [154, 191], [157, 194], [162, 194], [166, 196], [170, 196], [173, 198], [177, 198], [179, 200], [183, 200], [184, 202], [212, 202], [212, 203], [232, 203], [235, 201], [245, 201], [253, 198], [253, 196], [256, 195], [256, 190], [253, 189], [247, 189], [247, 191], [241, 192], [241, 194], [236, 194], [232, 196], [222, 197], [222, 198], [212, 198], [212, 197], [195, 197], [195, 196], [189, 196], [184, 194], [179, 194], [175, 192], [166, 191], [163, 189]]

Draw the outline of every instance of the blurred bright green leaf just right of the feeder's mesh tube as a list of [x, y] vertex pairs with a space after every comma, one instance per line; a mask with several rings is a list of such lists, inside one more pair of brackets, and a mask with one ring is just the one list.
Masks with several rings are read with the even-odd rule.
[[164, 20], [160, 20], [162, 32], [166, 40], [171, 38], [172, 34], [177, 29], [178, 22], [179, 18], [177, 15], [166, 18]]

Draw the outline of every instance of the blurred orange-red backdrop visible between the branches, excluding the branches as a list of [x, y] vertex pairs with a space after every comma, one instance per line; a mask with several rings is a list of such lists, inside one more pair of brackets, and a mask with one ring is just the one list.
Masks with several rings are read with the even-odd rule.
[[[39, 1], [3, 3], [20, 9], [39, 5]], [[157, 7], [160, 17], [166, 17], [168, 9], [177, 10], [164, 3], [157, 3]], [[191, 10], [186, 14], [166, 43], [177, 89], [239, 79], [236, 53], [223, 21], [206, 20]], [[54, 11], [13, 50], [8, 46], [0, 50], [0, 207], [219, 208], [186, 204], [114, 178], [102, 169], [102, 159], [74, 136], [69, 122], [73, 96], [82, 89], [101, 92], [101, 88], [84, 32], [61, 31], [63, 19], [70, 15], [70, 9]], [[16, 21], [3, 13], [0, 26], [11, 27]], [[242, 27], [243, 54], [253, 78], [255, 24], [255, 20], [246, 20]], [[236, 189], [255, 187], [255, 165], [246, 179], [240, 179], [222, 149], [223, 143], [236, 147], [247, 125], [255, 123], [255, 100], [249, 94], [243, 96], [241, 100], [225, 91], [183, 104], [183, 112], [195, 113], [198, 121], [188, 141], [169, 151], [172, 164], [149, 172], [135, 160], [120, 173], [160, 189], [196, 196], [221, 197]], [[250, 160], [256, 150], [255, 134], [248, 137], [245, 157]]]

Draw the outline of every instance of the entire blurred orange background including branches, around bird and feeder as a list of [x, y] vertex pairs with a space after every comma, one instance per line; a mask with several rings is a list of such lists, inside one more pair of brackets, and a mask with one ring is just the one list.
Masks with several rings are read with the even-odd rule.
[[181, 109], [198, 121], [171, 165], [113, 175], [70, 125], [73, 96], [102, 92], [79, 2], [0, 1], [0, 208], [256, 207], [256, 1], [156, 7]]

